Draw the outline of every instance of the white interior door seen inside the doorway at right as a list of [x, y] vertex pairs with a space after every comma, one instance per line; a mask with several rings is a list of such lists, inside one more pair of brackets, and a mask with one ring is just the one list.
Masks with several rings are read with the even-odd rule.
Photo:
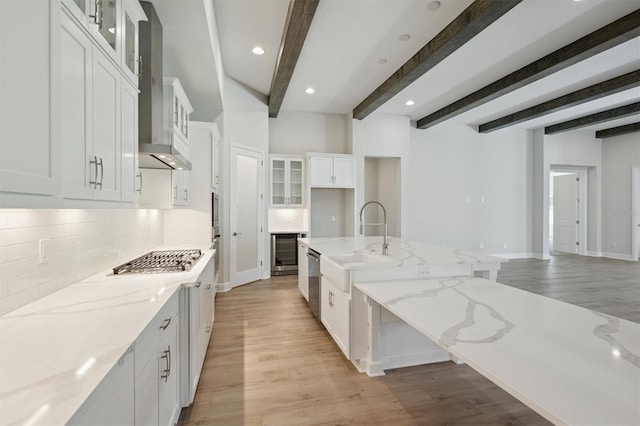
[[577, 175], [553, 178], [553, 250], [577, 253], [578, 185]]

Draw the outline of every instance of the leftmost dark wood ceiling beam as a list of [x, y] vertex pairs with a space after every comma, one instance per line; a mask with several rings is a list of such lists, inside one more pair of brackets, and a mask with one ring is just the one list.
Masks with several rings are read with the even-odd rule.
[[269, 117], [275, 118], [280, 112], [284, 95], [287, 93], [293, 70], [296, 68], [319, 3], [320, 0], [290, 0], [289, 2], [276, 70], [269, 89]]

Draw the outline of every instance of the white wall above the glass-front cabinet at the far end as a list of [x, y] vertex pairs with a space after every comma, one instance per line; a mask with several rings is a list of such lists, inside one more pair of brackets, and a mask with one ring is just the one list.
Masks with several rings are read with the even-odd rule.
[[348, 154], [347, 139], [346, 115], [283, 111], [269, 119], [270, 154]]

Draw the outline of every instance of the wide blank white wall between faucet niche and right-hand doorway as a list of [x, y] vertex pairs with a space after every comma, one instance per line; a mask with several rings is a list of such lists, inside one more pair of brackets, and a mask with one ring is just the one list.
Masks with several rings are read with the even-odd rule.
[[531, 157], [525, 130], [485, 135], [447, 123], [412, 129], [405, 237], [530, 256]]

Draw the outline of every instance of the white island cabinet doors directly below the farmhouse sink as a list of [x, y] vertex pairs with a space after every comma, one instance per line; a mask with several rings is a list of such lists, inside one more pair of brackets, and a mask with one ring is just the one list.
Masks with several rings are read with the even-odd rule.
[[320, 277], [320, 320], [338, 344], [338, 347], [350, 358], [351, 343], [351, 299], [329, 279]]

